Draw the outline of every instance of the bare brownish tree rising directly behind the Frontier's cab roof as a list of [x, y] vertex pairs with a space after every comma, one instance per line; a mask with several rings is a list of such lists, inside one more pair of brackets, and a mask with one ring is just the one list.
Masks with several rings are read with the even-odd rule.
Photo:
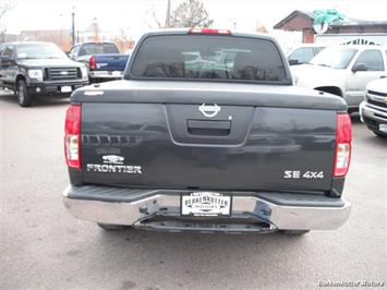
[[185, 0], [172, 12], [170, 27], [209, 27], [213, 24], [199, 0]]

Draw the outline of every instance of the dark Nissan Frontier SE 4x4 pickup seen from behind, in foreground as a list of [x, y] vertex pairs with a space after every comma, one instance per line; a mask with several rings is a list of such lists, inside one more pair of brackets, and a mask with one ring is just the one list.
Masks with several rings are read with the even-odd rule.
[[144, 35], [124, 80], [73, 93], [64, 144], [64, 205], [104, 229], [301, 234], [350, 213], [347, 105], [293, 87], [268, 36]]

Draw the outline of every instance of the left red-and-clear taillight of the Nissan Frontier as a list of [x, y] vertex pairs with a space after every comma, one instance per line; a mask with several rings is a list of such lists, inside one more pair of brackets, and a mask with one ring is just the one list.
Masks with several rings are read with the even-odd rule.
[[64, 124], [64, 155], [69, 167], [81, 169], [81, 106], [70, 105]]

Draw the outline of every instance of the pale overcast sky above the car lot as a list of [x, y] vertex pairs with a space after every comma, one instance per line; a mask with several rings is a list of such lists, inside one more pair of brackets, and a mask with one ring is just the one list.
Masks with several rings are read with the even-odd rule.
[[[101, 28], [118, 32], [124, 28], [136, 39], [149, 27], [156, 28], [153, 16], [164, 22], [167, 0], [0, 0], [11, 1], [13, 10], [4, 20], [9, 33], [24, 29], [70, 28], [72, 7], [76, 29], [83, 31], [93, 17]], [[172, 0], [172, 10], [182, 0]], [[204, 0], [214, 20], [214, 27], [252, 31], [256, 23], [268, 29], [294, 10], [337, 9], [348, 17], [387, 21], [386, 0]]]

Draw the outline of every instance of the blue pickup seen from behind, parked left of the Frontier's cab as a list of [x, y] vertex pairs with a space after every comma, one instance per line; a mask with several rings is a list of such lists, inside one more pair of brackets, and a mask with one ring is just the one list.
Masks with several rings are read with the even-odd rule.
[[69, 57], [84, 63], [90, 83], [122, 78], [129, 55], [120, 53], [112, 43], [84, 43], [75, 45]]

